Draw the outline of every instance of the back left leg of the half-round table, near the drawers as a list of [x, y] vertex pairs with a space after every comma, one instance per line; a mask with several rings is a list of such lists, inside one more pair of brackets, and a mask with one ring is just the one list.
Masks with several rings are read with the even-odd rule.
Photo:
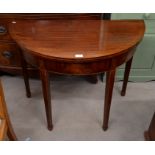
[[21, 52], [21, 65], [22, 65], [22, 73], [24, 77], [24, 83], [25, 83], [25, 88], [26, 88], [26, 96], [31, 97], [31, 91], [30, 91], [30, 84], [29, 84], [29, 73], [27, 70], [27, 63], [24, 59], [24, 56]]

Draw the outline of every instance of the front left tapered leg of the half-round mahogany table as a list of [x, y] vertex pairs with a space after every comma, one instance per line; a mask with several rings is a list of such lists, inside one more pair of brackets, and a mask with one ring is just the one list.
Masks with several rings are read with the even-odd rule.
[[49, 74], [48, 71], [44, 68], [44, 65], [40, 65], [40, 78], [42, 81], [42, 91], [45, 103], [45, 110], [46, 110], [46, 118], [48, 123], [48, 129], [53, 129], [52, 124], [52, 110], [51, 110], [51, 94], [50, 94], [50, 81], [49, 81]]

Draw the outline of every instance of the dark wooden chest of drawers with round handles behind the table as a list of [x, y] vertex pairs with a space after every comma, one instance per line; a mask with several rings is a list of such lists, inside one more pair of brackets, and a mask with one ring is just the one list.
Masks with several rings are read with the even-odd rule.
[[[8, 23], [16, 19], [110, 19], [110, 13], [18, 13], [18, 14], [0, 14], [0, 73], [10, 73], [12, 75], [22, 74], [21, 55], [18, 45], [12, 40]], [[33, 66], [28, 66], [28, 72], [31, 77], [38, 76], [38, 70]], [[91, 83], [97, 82], [97, 77], [89, 76], [87, 80]]]

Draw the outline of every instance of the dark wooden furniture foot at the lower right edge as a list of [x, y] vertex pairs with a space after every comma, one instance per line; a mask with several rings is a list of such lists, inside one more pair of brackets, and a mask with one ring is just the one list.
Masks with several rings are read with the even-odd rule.
[[155, 141], [155, 113], [152, 117], [149, 129], [144, 133], [145, 140]]

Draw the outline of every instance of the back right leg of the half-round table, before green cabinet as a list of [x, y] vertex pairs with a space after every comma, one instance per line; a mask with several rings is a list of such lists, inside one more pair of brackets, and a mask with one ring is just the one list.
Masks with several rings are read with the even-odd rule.
[[121, 96], [125, 96], [133, 57], [126, 63]]

